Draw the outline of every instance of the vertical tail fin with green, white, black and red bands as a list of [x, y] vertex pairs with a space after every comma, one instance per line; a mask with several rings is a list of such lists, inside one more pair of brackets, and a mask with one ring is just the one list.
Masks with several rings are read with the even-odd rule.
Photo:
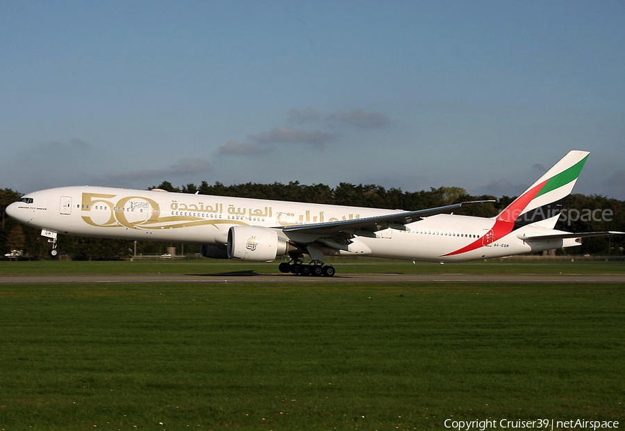
[[553, 229], [590, 153], [569, 151], [547, 174], [503, 210], [497, 220], [515, 223], [515, 228], [535, 223]]

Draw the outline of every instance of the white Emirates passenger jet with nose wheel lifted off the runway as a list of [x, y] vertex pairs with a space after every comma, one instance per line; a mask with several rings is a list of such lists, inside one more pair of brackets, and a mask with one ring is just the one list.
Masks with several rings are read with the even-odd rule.
[[217, 259], [266, 262], [288, 256], [278, 266], [283, 273], [331, 277], [335, 269], [324, 264], [324, 256], [462, 262], [625, 235], [553, 229], [589, 154], [570, 151], [492, 218], [453, 214], [492, 201], [404, 211], [89, 186], [26, 194], [6, 214], [42, 229], [52, 256], [59, 253], [58, 235], [183, 242], [199, 244], [203, 256]]

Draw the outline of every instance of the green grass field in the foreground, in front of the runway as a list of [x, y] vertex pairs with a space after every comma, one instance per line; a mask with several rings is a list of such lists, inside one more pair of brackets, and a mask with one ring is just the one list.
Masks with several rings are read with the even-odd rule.
[[0, 430], [623, 422], [624, 303], [622, 285], [0, 286]]

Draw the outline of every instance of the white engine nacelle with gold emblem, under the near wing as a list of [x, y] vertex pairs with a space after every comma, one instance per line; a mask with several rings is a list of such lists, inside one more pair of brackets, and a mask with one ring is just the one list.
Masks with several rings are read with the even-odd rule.
[[273, 229], [257, 226], [233, 226], [228, 230], [228, 257], [265, 262], [285, 255], [288, 243]]

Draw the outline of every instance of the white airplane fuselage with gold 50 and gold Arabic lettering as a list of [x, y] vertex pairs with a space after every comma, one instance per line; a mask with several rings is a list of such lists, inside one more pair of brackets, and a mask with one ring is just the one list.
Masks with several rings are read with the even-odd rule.
[[[232, 226], [280, 230], [294, 224], [363, 219], [399, 210], [320, 205], [251, 198], [207, 196], [109, 187], [62, 187], [26, 195], [7, 214], [28, 226], [60, 235], [188, 244], [224, 245]], [[367, 255], [437, 262], [475, 260], [576, 245], [566, 240], [524, 242], [522, 235], [542, 233], [524, 226], [493, 239], [496, 220], [437, 214], [374, 235], [356, 233], [344, 249], [326, 255]], [[551, 232], [558, 232], [551, 230]], [[471, 246], [473, 244], [473, 246]], [[463, 248], [472, 248], [461, 251]]]

